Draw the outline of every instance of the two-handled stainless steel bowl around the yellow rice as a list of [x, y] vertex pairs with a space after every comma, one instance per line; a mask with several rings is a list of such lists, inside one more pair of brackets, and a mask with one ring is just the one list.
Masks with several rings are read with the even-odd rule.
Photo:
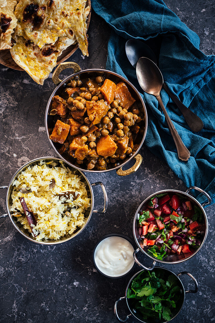
[[[15, 172], [14, 176], [12, 177], [10, 183], [8, 184], [8, 186], [0, 186], [0, 188], [4, 188], [4, 189], [7, 189], [7, 192], [6, 192], [6, 208], [7, 208], [7, 213], [6, 214], [2, 214], [0, 215], [0, 218], [3, 218], [3, 217], [6, 217], [6, 216], [9, 216], [10, 218], [10, 221], [12, 222], [13, 226], [16, 228], [16, 230], [21, 233], [22, 235], [24, 235], [24, 237], [26, 237], [28, 240], [31, 240], [33, 242], [36, 242], [36, 243], [39, 243], [39, 244], [42, 244], [42, 245], [56, 245], [56, 244], [59, 244], [59, 243], [63, 243], [63, 242], [66, 242], [66, 241], [69, 241], [73, 238], [75, 238], [79, 233], [81, 233], [87, 226], [87, 224], [89, 223], [89, 220], [90, 220], [90, 217], [92, 215], [92, 213], [99, 213], [99, 214], [104, 214], [107, 210], [107, 206], [108, 206], [108, 196], [107, 196], [107, 192], [106, 192], [106, 189], [105, 189], [105, 186], [102, 182], [96, 182], [96, 183], [92, 183], [90, 184], [89, 180], [87, 179], [86, 175], [77, 170], [77, 169], [74, 169], [73, 167], [65, 164], [66, 167], [68, 167], [71, 171], [73, 171], [74, 173], [76, 173], [78, 176], [81, 177], [81, 180], [82, 182], [85, 183], [86, 185], [86, 188], [87, 188], [87, 195], [90, 199], [90, 207], [86, 210], [85, 212], [85, 217], [87, 217], [87, 221], [86, 223], [80, 228], [78, 229], [76, 232], [74, 232], [73, 234], [70, 234], [70, 235], [67, 235], [67, 236], [64, 236], [64, 237], [61, 237], [59, 240], [51, 240], [51, 239], [48, 239], [48, 240], [44, 240], [44, 241], [36, 241], [35, 238], [33, 238], [31, 236], [31, 234], [28, 232], [28, 230], [24, 229], [23, 225], [17, 221], [16, 217], [11, 215], [10, 213], [10, 206], [12, 205], [12, 198], [11, 198], [11, 193], [13, 191], [13, 182], [16, 180], [17, 176], [22, 172], [24, 171], [28, 166], [33, 166], [35, 164], [37, 164], [39, 161], [55, 161], [56, 163], [59, 163], [59, 161], [61, 161], [59, 158], [55, 158], [55, 157], [41, 157], [41, 158], [36, 158], [32, 161], [29, 161], [27, 162], [25, 165], [23, 165], [17, 172]], [[93, 210], [93, 207], [94, 207], [94, 195], [93, 195], [93, 190], [92, 190], [92, 187], [93, 186], [96, 186], [96, 185], [101, 185], [101, 188], [102, 188], [102, 191], [103, 191], [103, 194], [104, 194], [104, 209], [103, 211], [97, 211], [97, 210]]]

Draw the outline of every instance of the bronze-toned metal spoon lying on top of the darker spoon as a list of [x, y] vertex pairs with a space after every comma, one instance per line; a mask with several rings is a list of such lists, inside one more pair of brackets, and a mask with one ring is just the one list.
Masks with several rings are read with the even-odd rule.
[[175, 129], [172, 121], [169, 118], [167, 110], [165, 109], [163, 102], [160, 97], [160, 90], [163, 86], [163, 76], [157, 67], [157, 65], [146, 57], [141, 57], [138, 59], [136, 73], [139, 85], [148, 94], [153, 94], [158, 100], [165, 118], [167, 120], [169, 129], [171, 131], [172, 137], [175, 141], [176, 148], [178, 151], [179, 159], [182, 161], [188, 161], [190, 157], [189, 150], [185, 147], [183, 141], [181, 140], [178, 131]]

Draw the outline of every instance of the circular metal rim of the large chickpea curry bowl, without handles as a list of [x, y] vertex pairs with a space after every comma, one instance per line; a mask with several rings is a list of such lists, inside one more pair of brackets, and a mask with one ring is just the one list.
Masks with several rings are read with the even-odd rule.
[[[53, 141], [51, 141], [51, 139], [49, 138], [49, 133], [48, 133], [48, 110], [49, 110], [49, 105], [51, 103], [51, 100], [53, 98], [53, 96], [55, 95], [56, 91], [62, 87], [65, 82], [67, 82], [71, 77], [74, 77], [74, 76], [77, 76], [77, 75], [80, 75], [82, 73], [86, 73], [86, 72], [105, 72], [105, 73], [110, 73], [110, 74], [113, 74], [117, 77], [119, 77], [120, 79], [122, 79], [124, 82], [128, 83], [131, 88], [137, 93], [140, 101], [141, 101], [141, 104], [143, 106], [143, 109], [144, 109], [144, 112], [145, 112], [145, 130], [144, 130], [144, 134], [143, 134], [143, 137], [142, 137], [142, 140], [141, 142], [139, 143], [139, 146], [138, 146], [138, 149], [134, 152], [134, 154], [128, 158], [128, 160], [124, 161], [123, 163], [121, 163], [120, 165], [118, 166], [115, 166], [113, 168], [110, 168], [110, 169], [106, 169], [106, 170], [87, 170], [87, 169], [84, 169], [84, 168], [80, 168], [74, 164], [72, 164], [70, 161], [67, 161], [58, 151], [57, 149], [55, 148], [54, 146], [54, 143]], [[128, 81], [128, 79], [124, 78], [123, 76], [119, 75], [118, 73], [115, 73], [115, 72], [112, 72], [110, 70], [107, 70], [107, 69], [103, 69], [103, 68], [89, 68], [89, 69], [83, 69], [77, 73], [73, 73], [71, 75], [69, 75], [67, 78], [65, 78], [62, 82], [60, 82], [60, 84], [58, 84], [58, 86], [54, 89], [54, 91], [52, 92], [52, 94], [50, 95], [49, 99], [48, 99], [48, 102], [47, 102], [47, 105], [46, 105], [46, 112], [45, 112], [45, 128], [46, 128], [46, 135], [47, 135], [47, 138], [48, 138], [48, 141], [51, 145], [51, 147], [54, 149], [54, 151], [56, 152], [56, 154], [60, 157], [60, 159], [62, 159], [63, 161], [65, 161], [67, 164], [69, 164], [70, 166], [78, 169], [79, 171], [81, 172], [89, 172], [89, 173], [104, 173], [104, 172], [110, 172], [110, 171], [114, 171], [114, 170], [117, 170], [118, 168], [121, 168], [123, 167], [125, 164], [127, 164], [129, 161], [131, 161], [137, 154], [138, 154], [138, 151], [140, 150], [140, 148], [142, 147], [143, 145], [143, 142], [145, 141], [145, 138], [146, 138], [146, 133], [147, 133], [147, 128], [148, 128], [148, 115], [147, 115], [147, 110], [146, 110], [146, 106], [145, 106], [145, 103], [143, 101], [143, 98], [141, 97], [139, 91], [136, 89], [136, 87], [130, 82]]]

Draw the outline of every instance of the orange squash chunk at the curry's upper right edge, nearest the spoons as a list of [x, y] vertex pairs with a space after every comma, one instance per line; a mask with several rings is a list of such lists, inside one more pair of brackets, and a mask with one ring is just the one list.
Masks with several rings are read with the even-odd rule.
[[123, 109], [129, 109], [132, 104], [136, 101], [132, 96], [131, 93], [128, 91], [127, 86], [123, 82], [119, 82], [117, 84], [114, 97], [116, 100], [119, 101], [120, 105]]

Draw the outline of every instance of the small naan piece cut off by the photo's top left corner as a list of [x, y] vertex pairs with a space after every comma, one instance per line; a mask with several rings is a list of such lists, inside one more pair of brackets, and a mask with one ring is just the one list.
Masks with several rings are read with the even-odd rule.
[[16, 26], [14, 7], [16, 0], [0, 0], [0, 50], [9, 49], [12, 46], [11, 34]]

